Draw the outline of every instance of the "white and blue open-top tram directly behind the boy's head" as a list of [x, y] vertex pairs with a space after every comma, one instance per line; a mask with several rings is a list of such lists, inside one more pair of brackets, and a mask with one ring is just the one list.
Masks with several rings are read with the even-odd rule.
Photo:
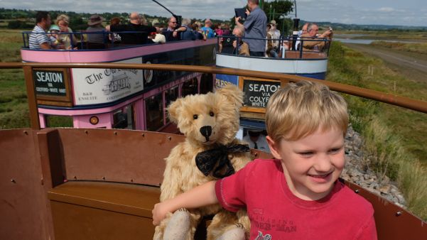
[[[244, 39], [245, 38], [242, 38], [242, 40]], [[222, 42], [232, 42], [232, 40], [234, 39], [230, 37], [223, 39]], [[279, 57], [266, 58], [237, 55], [232, 49], [222, 47], [222, 52], [217, 53], [216, 65], [217, 67], [283, 73], [308, 77], [309, 79], [325, 80], [331, 40], [317, 40], [324, 42], [325, 48], [322, 50], [304, 50], [303, 48], [296, 48], [296, 36], [272, 40], [278, 41], [279, 46], [285, 43], [285, 45], [290, 46], [291, 49], [284, 50], [284, 48], [281, 48]], [[301, 45], [303, 45], [304, 41], [310, 40], [301, 40]], [[265, 138], [266, 127], [263, 114], [265, 113], [266, 104], [269, 102], [269, 97], [280, 88], [280, 81], [271, 80], [267, 77], [244, 77], [239, 75], [217, 74], [215, 87], [220, 88], [225, 84], [236, 84], [244, 92], [244, 106], [240, 110], [240, 129], [237, 133], [237, 137], [242, 139], [247, 136], [248, 131], [252, 130], [257, 131], [257, 134], [259, 134], [260, 131], [264, 132], [261, 138]], [[266, 143], [266, 141], [260, 142]], [[266, 148], [266, 151], [268, 151], [268, 148]]]

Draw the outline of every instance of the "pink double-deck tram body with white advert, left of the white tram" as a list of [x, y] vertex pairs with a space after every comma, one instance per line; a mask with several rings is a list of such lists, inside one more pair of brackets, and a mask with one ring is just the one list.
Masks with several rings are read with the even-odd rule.
[[[215, 65], [216, 39], [102, 50], [30, 50], [23, 62], [123, 62]], [[175, 132], [166, 107], [212, 91], [211, 74], [131, 69], [35, 69], [40, 126]]]

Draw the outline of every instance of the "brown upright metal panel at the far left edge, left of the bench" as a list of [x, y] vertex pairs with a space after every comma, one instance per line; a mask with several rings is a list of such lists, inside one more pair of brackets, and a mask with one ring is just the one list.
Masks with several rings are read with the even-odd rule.
[[53, 239], [31, 129], [0, 131], [0, 239]]

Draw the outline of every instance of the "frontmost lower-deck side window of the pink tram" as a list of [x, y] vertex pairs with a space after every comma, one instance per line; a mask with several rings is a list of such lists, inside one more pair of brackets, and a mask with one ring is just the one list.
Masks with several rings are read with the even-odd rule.
[[146, 101], [146, 128], [147, 131], [157, 131], [163, 126], [162, 94], [150, 97]]

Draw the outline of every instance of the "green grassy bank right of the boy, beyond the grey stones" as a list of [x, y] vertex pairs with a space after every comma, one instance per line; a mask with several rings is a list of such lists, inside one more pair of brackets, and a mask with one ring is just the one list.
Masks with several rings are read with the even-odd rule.
[[[374, 75], [368, 66], [376, 69]], [[327, 80], [426, 101], [425, 82], [413, 82], [390, 70], [382, 60], [333, 43]], [[427, 219], [427, 114], [369, 99], [345, 95], [350, 121], [364, 137], [364, 149], [374, 160], [369, 168], [379, 179], [399, 183], [409, 210]]]

